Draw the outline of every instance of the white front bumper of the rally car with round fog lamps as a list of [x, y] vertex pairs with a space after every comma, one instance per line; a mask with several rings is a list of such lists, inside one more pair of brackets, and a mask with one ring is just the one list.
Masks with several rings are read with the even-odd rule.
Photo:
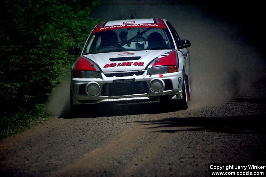
[[[154, 100], [162, 96], [170, 96], [171, 99], [182, 98], [182, 71], [151, 76], [147, 75], [147, 70], [109, 72], [101, 73], [101, 75], [102, 78], [97, 79], [71, 79], [73, 105], [106, 101]], [[114, 80], [131, 82], [114, 83]], [[157, 89], [156, 84], [162, 88]], [[92, 94], [88, 88], [92, 85], [99, 89], [96, 95]]]

